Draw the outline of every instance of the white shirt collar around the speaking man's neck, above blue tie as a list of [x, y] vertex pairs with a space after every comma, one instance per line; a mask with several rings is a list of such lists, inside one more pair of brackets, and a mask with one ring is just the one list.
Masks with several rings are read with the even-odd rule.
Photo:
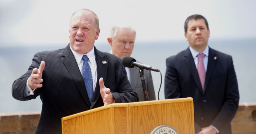
[[78, 52], [74, 51], [74, 50], [71, 48], [71, 46], [70, 46], [70, 45], [69, 45], [69, 47], [70, 47], [70, 49], [71, 49], [71, 51], [72, 51], [72, 53], [73, 53], [73, 55], [74, 55], [74, 57], [75, 57], [75, 59], [76, 59], [76, 63], [77, 63], [77, 65], [79, 65], [79, 64], [80, 64], [80, 62], [81, 62], [81, 60], [82, 60], [83, 55], [87, 55], [87, 57], [88, 57], [89, 61], [90, 61], [91, 63], [94, 63], [94, 60], [95, 60], [94, 47], [91, 49], [91, 51], [90, 51], [90, 52], [88, 52], [88, 53], [86, 53], [86, 54], [80, 54], [80, 53], [78, 53]]

